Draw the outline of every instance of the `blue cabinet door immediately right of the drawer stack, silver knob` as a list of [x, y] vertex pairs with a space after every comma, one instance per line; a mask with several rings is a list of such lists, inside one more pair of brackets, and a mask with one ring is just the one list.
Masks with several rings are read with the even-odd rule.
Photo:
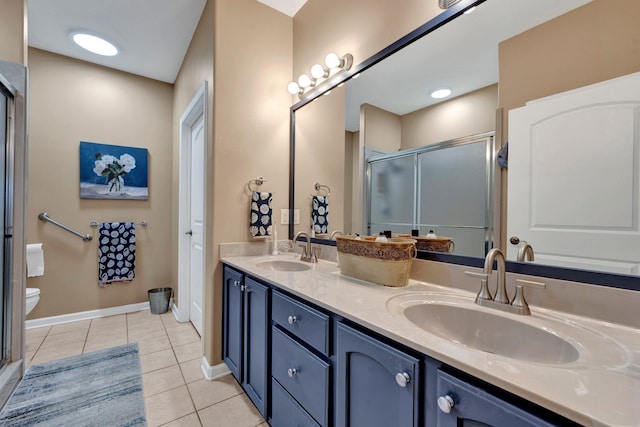
[[418, 425], [418, 359], [343, 324], [336, 355], [338, 427]]

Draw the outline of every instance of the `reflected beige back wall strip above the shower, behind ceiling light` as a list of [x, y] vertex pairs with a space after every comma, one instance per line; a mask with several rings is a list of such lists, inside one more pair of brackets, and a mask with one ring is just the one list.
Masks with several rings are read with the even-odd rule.
[[498, 85], [402, 116], [402, 149], [422, 147], [496, 129]]

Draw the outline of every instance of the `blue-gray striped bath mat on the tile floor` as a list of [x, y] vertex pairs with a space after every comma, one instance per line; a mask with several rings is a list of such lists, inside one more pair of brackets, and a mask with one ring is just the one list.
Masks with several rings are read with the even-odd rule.
[[138, 344], [31, 366], [0, 425], [145, 426]]

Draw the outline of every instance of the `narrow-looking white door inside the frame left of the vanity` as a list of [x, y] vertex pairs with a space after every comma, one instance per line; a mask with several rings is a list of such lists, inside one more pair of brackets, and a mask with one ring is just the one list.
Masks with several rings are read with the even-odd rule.
[[191, 128], [189, 320], [202, 335], [204, 283], [204, 115]]

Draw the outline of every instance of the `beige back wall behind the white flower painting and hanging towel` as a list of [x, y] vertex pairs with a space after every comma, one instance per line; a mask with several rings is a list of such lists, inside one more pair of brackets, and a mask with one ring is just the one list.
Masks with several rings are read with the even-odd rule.
[[[41, 291], [30, 318], [147, 301], [170, 286], [171, 85], [30, 49], [31, 135], [27, 242], [44, 243], [45, 274], [29, 278]], [[79, 197], [80, 141], [149, 149], [149, 200]], [[96, 235], [90, 221], [141, 221], [136, 278], [101, 288], [97, 240], [81, 239], [37, 219], [50, 216]]]

